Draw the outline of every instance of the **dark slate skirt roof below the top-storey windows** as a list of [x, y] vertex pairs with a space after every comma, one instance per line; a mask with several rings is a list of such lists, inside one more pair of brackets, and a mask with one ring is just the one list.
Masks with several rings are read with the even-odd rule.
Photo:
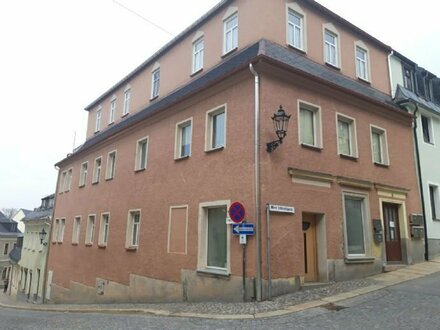
[[122, 132], [132, 125], [145, 120], [155, 113], [164, 110], [177, 102], [181, 102], [186, 98], [191, 97], [197, 92], [200, 92], [213, 84], [219, 82], [221, 79], [249, 66], [249, 63], [263, 60], [271, 62], [275, 65], [282, 66], [283, 69], [294, 71], [309, 79], [314, 79], [318, 82], [330, 85], [351, 95], [363, 98], [369, 102], [385, 106], [391, 111], [399, 112], [403, 116], [409, 116], [402, 109], [397, 107], [391, 97], [382, 93], [366, 84], [357, 80], [353, 80], [335, 70], [328, 68], [322, 64], [310, 60], [308, 57], [299, 54], [298, 52], [280, 46], [267, 40], [260, 40], [257, 43], [237, 52], [226, 58], [223, 62], [206, 71], [195, 80], [176, 89], [174, 92], [159, 99], [144, 109], [127, 117], [123, 121], [113, 125], [111, 128], [93, 136], [88, 139], [82, 146], [80, 146], [74, 153], [69, 154], [64, 160], [58, 162], [56, 166], [60, 166], [65, 160], [74, 155], [82, 153], [92, 146], [108, 139], [109, 137]]

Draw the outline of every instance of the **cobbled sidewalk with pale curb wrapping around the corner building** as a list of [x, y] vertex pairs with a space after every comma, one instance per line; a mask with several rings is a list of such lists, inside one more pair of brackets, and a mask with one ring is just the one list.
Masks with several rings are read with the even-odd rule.
[[37, 305], [15, 301], [0, 293], [0, 307], [30, 311], [67, 313], [139, 313], [156, 316], [195, 317], [210, 319], [258, 319], [281, 316], [306, 309], [334, 304], [383, 288], [440, 272], [440, 258], [410, 265], [366, 279], [331, 283], [325, 287], [300, 290], [274, 298], [272, 301], [243, 303], [167, 303], [167, 304], [94, 304]]

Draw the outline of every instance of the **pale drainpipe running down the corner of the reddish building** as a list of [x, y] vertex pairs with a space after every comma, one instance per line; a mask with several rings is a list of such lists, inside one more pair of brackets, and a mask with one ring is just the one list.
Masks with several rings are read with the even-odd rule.
[[256, 298], [257, 301], [262, 300], [262, 279], [261, 279], [261, 210], [260, 210], [260, 77], [255, 71], [252, 63], [249, 69], [255, 77], [255, 148], [254, 148], [254, 165], [255, 165], [255, 226], [256, 226], [256, 262], [257, 273], [255, 279]]

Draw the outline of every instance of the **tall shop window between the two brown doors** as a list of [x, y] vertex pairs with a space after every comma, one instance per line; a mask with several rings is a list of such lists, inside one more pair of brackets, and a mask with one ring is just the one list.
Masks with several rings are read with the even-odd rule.
[[343, 193], [345, 254], [347, 257], [368, 255], [369, 236], [367, 195]]

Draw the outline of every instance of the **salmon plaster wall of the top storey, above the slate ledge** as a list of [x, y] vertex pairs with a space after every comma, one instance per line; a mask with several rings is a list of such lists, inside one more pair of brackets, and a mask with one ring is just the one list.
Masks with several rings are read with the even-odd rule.
[[[179, 41], [167, 53], [148, 65], [142, 72], [128, 82], [131, 87], [130, 113], [140, 111], [151, 102], [151, 72], [156, 63], [160, 64], [160, 92], [159, 98], [164, 97], [179, 86], [182, 86], [200, 74], [192, 75], [192, 43], [194, 37], [203, 32], [204, 34], [204, 69], [209, 70], [222, 61], [223, 56], [223, 19], [231, 12], [231, 8], [238, 9], [238, 49], [262, 39], [268, 39], [287, 47], [287, 7], [286, 3], [295, 1], [266, 1], [266, 0], [240, 0], [232, 1], [229, 6], [221, 9], [209, 21], [205, 22], [197, 32], [190, 33]], [[306, 13], [306, 39], [308, 43], [306, 56], [324, 64], [323, 53], [323, 24], [332, 23], [340, 33], [340, 72], [353, 79], [356, 78], [355, 68], [355, 41], [363, 41], [369, 50], [370, 60], [370, 84], [384, 93], [390, 93], [388, 77], [387, 50], [378, 47], [365, 37], [349, 28], [338, 24], [333, 18], [311, 9], [304, 1], [297, 1]], [[261, 13], [265, 13], [261, 15]], [[179, 63], [179, 65], [175, 65]], [[99, 105], [89, 111], [87, 138], [95, 134], [96, 110], [101, 107], [101, 130], [109, 125], [110, 102], [116, 96], [116, 120], [123, 120], [122, 109], [124, 90], [127, 84], [112, 92]]]

